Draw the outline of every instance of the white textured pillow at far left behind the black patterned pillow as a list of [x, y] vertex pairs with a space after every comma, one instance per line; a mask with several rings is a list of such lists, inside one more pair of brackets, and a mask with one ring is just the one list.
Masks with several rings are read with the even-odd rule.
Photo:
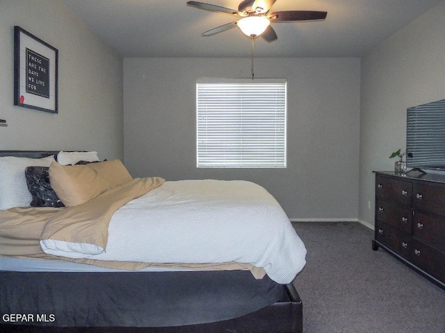
[[0, 210], [29, 206], [33, 197], [26, 185], [25, 168], [49, 167], [53, 161], [53, 155], [43, 158], [0, 157]]

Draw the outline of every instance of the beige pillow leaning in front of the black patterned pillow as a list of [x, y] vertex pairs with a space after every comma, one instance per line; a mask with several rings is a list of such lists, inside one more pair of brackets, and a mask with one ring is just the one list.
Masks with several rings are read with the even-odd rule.
[[131, 179], [119, 160], [70, 166], [53, 162], [49, 167], [51, 187], [67, 207], [86, 203]]

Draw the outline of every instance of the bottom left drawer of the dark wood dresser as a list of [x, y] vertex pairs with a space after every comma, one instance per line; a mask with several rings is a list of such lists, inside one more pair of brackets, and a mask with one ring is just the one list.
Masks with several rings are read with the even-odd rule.
[[405, 259], [411, 259], [414, 248], [410, 234], [401, 232], [382, 221], [377, 221], [375, 239]]

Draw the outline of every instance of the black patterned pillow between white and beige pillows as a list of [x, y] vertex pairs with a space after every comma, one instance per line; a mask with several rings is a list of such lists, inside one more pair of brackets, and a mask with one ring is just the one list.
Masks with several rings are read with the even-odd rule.
[[49, 182], [49, 167], [26, 167], [26, 185], [33, 207], [65, 207]]

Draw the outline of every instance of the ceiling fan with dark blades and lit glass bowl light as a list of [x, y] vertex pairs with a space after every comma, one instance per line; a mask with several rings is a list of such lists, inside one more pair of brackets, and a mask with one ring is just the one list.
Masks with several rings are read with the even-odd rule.
[[248, 37], [253, 38], [261, 35], [267, 42], [277, 40], [277, 33], [270, 26], [271, 22], [313, 21], [325, 19], [327, 15], [327, 12], [314, 10], [269, 12], [275, 1], [277, 0], [244, 0], [239, 4], [238, 10], [198, 1], [188, 1], [187, 5], [211, 12], [222, 12], [240, 18], [237, 21], [206, 31], [202, 33], [202, 36], [215, 35], [238, 26]]

